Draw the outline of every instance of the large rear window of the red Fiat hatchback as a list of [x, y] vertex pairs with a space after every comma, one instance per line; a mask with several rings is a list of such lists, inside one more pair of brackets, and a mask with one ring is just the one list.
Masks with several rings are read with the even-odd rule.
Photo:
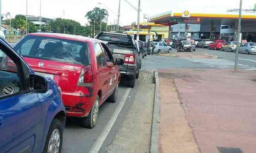
[[86, 42], [43, 36], [26, 36], [14, 49], [24, 57], [88, 65], [89, 47]]

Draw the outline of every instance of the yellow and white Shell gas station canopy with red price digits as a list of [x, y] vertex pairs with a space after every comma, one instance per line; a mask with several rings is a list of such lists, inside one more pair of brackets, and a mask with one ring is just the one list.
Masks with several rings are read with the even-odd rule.
[[[237, 12], [225, 12], [223, 14], [216, 13], [190, 13], [183, 11], [182, 13], [165, 12], [159, 15], [150, 17], [149, 22], [154, 22], [160, 25], [176, 25], [184, 24], [220, 24], [220, 25], [235, 25], [239, 18]], [[255, 13], [242, 13], [241, 24], [256, 24]]]

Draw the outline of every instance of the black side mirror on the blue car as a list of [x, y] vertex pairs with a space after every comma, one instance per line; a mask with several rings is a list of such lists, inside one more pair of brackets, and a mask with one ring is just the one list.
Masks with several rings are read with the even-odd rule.
[[49, 89], [48, 80], [35, 74], [29, 75], [29, 89], [35, 93], [46, 93]]

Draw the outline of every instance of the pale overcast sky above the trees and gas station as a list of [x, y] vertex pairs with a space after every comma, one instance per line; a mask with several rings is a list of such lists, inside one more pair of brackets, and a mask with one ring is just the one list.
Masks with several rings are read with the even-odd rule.
[[[138, 0], [127, 1], [138, 7]], [[243, 0], [242, 8], [254, 8], [254, 4], [256, 0]], [[115, 14], [118, 14], [118, 5], [119, 0], [41, 0], [41, 16], [52, 19], [58, 17], [73, 19], [85, 25], [88, 23], [85, 18], [86, 13], [94, 7], [100, 7], [109, 11], [108, 24], [113, 24], [117, 19]], [[17, 14], [26, 15], [26, 0], [2, 0], [1, 8], [2, 14], [10, 12], [11, 17]], [[191, 13], [222, 13], [234, 8], [239, 8], [239, 0], [141, 0], [140, 20], [142, 21], [143, 14], [154, 16], [167, 11], [181, 13], [185, 10]], [[28, 15], [40, 16], [40, 0], [28, 0]], [[137, 11], [125, 0], [121, 0], [120, 25], [131, 25], [136, 20]]]

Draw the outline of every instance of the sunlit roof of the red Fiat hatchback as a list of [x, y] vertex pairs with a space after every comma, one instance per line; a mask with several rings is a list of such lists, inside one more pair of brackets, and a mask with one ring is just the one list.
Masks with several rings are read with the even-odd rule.
[[68, 40], [76, 40], [76, 41], [83, 41], [83, 42], [103, 42], [99, 39], [94, 39], [85, 36], [77, 36], [77, 35], [69, 35], [69, 34], [59, 34], [59, 33], [31, 33], [26, 36], [45, 36], [45, 37], [52, 37], [52, 38], [62, 38]]

